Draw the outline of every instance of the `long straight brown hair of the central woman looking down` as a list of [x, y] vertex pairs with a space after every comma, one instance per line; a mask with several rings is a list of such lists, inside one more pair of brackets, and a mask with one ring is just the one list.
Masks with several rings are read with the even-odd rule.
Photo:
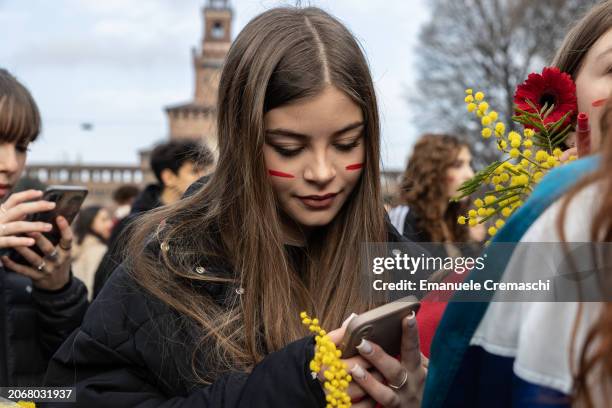
[[[364, 171], [340, 213], [309, 240], [302, 270], [294, 270], [263, 161], [264, 114], [329, 85], [363, 111]], [[194, 358], [206, 347], [216, 364], [206, 377], [192, 365], [199, 382], [225, 369], [248, 370], [306, 335], [301, 310], [331, 329], [370, 307], [359, 290], [360, 244], [386, 241], [374, 87], [358, 43], [334, 17], [317, 8], [276, 8], [249, 22], [223, 68], [217, 124], [220, 154], [210, 181], [143, 217], [127, 258], [140, 285], [195, 324]], [[160, 257], [143, 253], [153, 233], [165, 249]], [[215, 273], [224, 263], [234, 275]], [[200, 267], [207, 272], [196, 273]], [[231, 291], [226, 303], [233, 307], [220, 307], [197, 289], [199, 281], [243, 291]]]

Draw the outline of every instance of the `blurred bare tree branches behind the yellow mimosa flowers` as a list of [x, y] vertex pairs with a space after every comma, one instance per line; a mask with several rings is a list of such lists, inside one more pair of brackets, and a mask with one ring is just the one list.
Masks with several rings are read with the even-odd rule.
[[466, 88], [478, 88], [510, 128], [516, 86], [553, 57], [570, 25], [597, 0], [433, 0], [419, 34], [417, 80], [407, 99], [422, 132], [453, 132], [477, 164], [498, 157], [466, 114]]

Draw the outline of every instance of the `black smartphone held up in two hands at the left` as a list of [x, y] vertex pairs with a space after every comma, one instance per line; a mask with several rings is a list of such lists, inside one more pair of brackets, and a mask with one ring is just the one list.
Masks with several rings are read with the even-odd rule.
[[[85, 201], [85, 197], [87, 197], [87, 193], [88, 190], [85, 187], [49, 186], [45, 190], [41, 200], [54, 202], [56, 204], [55, 208], [51, 211], [31, 214], [26, 218], [26, 221], [46, 222], [51, 224], [53, 226], [51, 231], [43, 232], [42, 234], [55, 246], [59, 244], [62, 238], [62, 234], [57, 226], [57, 217], [61, 215], [71, 224], [79, 213], [81, 205], [83, 205], [83, 201]], [[30, 247], [30, 249], [38, 255], [44, 256], [37, 245]], [[29, 262], [23, 259], [15, 250], [11, 251], [9, 257], [17, 263], [29, 264]]]

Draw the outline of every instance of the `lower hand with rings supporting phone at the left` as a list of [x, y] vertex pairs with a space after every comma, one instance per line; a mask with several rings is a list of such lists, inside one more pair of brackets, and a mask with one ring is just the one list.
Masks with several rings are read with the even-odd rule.
[[31, 278], [34, 286], [39, 289], [58, 290], [64, 287], [70, 280], [72, 230], [64, 217], [57, 217], [56, 222], [61, 234], [58, 246], [53, 246], [40, 232], [28, 233], [29, 239], [36, 243], [44, 257], [41, 257], [25, 246], [17, 246], [15, 251], [21, 254], [28, 261], [29, 265], [16, 263], [7, 256], [2, 257], [2, 263], [6, 267]]

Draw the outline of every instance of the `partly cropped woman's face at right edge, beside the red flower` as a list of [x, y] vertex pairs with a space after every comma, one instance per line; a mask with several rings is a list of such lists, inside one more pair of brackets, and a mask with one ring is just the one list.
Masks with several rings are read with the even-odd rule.
[[576, 76], [578, 110], [589, 115], [591, 146], [601, 142], [599, 122], [605, 99], [612, 92], [612, 29], [593, 44]]

